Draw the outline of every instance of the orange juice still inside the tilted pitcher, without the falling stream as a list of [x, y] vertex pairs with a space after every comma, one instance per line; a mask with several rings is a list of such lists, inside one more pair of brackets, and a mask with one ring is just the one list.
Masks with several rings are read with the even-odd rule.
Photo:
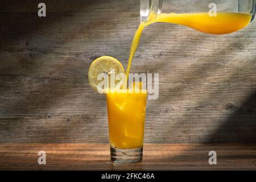
[[250, 20], [251, 15], [246, 13], [217, 13], [216, 16], [209, 16], [209, 13], [162, 13], [152, 22], [181, 24], [206, 34], [220, 35], [241, 30]]

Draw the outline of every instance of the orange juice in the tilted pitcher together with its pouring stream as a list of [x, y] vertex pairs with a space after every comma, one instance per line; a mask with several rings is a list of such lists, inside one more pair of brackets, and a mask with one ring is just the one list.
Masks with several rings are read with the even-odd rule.
[[[207, 34], [221, 35], [230, 34], [245, 28], [250, 23], [250, 20], [251, 14], [246, 13], [217, 13], [217, 16], [209, 16], [209, 13], [161, 13], [159, 15], [151, 13], [148, 20], [142, 22], [135, 32], [133, 42], [131, 43], [126, 76], [128, 77], [129, 75], [131, 61], [133, 60], [134, 53], [138, 47], [142, 31], [144, 27], [152, 23], [163, 22], [180, 24]], [[159, 32], [159, 34], [161, 34], [161, 32]]]

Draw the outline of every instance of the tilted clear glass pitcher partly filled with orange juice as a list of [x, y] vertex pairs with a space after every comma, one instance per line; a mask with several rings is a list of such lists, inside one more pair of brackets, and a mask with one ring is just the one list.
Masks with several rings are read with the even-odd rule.
[[141, 0], [141, 22], [180, 24], [207, 34], [229, 34], [255, 16], [256, 0]]

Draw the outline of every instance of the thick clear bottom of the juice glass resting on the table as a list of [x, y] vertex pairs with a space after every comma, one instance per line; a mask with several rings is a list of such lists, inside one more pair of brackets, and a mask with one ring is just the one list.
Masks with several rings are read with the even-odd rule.
[[142, 160], [143, 147], [120, 149], [110, 146], [111, 161], [114, 163], [137, 163]]

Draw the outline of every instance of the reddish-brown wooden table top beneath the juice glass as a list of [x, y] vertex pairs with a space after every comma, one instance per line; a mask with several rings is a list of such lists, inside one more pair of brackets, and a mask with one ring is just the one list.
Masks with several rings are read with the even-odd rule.
[[[46, 165], [38, 152], [46, 152]], [[217, 152], [217, 165], [209, 165], [209, 151]], [[106, 143], [2, 143], [0, 169], [65, 170], [176, 170], [256, 169], [256, 144], [145, 144], [143, 161], [110, 162]]]

